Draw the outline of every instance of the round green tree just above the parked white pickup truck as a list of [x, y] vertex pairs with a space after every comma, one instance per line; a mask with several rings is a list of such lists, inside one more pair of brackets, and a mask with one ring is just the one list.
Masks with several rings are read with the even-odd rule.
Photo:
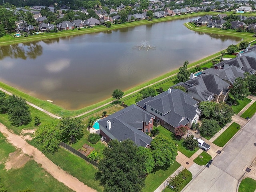
[[219, 124], [214, 119], [202, 119], [202, 126], [199, 127], [202, 136], [213, 137], [220, 130]]

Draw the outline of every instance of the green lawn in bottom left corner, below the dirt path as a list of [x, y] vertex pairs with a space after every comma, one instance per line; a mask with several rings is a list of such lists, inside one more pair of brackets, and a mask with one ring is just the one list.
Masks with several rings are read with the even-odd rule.
[[23, 167], [16, 169], [5, 169], [5, 162], [9, 153], [16, 151], [16, 148], [6, 141], [0, 133], [0, 172], [1, 184], [8, 192], [19, 190], [36, 189], [42, 192], [71, 192], [70, 188], [53, 178], [43, 168], [40, 168], [34, 160], [29, 160]]

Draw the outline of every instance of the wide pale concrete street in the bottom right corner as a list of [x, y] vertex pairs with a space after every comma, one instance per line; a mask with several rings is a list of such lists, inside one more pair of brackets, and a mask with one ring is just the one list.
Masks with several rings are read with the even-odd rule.
[[236, 192], [240, 178], [255, 157], [256, 115], [214, 158], [210, 167], [204, 168], [183, 191]]

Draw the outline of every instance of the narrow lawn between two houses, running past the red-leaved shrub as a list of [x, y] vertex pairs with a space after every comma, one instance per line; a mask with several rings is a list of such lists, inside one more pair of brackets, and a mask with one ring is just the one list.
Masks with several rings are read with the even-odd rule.
[[177, 139], [175, 134], [164, 128], [163, 126], [157, 127], [160, 131], [160, 134], [170, 138], [175, 144], [178, 144], [178, 150], [182, 152], [187, 157], [191, 157], [199, 148], [196, 147], [195, 150], [190, 151], [186, 148], [186, 144], [184, 144], [184, 139]]

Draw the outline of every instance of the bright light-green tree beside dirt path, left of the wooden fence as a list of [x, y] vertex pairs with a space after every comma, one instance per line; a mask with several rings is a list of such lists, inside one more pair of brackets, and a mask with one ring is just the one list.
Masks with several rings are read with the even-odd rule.
[[35, 131], [35, 138], [33, 139], [42, 147], [42, 151], [54, 154], [61, 141], [61, 132], [58, 128], [58, 121], [44, 124]]

